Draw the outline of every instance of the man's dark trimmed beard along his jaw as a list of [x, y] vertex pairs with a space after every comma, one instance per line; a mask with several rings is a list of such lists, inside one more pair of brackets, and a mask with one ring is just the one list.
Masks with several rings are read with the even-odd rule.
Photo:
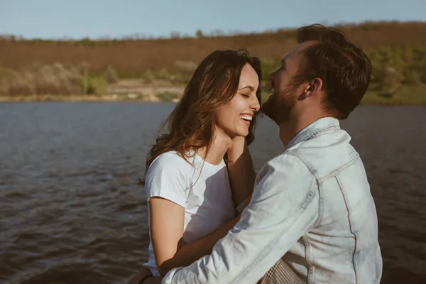
[[287, 121], [296, 103], [296, 90], [297, 86], [290, 85], [281, 94], [276, 92], [271, 94], [271, 97], [262, 105], [263, 113], [278, 125]]

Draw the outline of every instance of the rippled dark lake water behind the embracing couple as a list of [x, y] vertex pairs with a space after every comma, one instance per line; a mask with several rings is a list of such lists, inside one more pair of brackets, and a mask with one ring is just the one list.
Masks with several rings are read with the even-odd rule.
[[[146, 261], [136, 185], [173, 103], [0, 104], [0, 283], [126, 283]], [[426, 107], [359, 107], [342, 128], [364, 160], [382, 283], [426, 283]], [[280, 153], [264, 118], [256, 170]]]

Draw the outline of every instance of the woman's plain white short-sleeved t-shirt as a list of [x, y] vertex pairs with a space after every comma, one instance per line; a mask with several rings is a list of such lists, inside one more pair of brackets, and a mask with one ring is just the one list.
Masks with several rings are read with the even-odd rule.
[[[185, 208], [182, 244], [200, 239], [235, 217], [224, 160], [219, 165], [212, 165], [197, 154], [188, 160], [192, 165], [176, 151], [163, 153], [151, 163], [145, 180], [148, 200], [163, 197]], [[148, 203], [148, 224], [151, 220], [149, 212]], [[148, 253], [148, 263], [143, 266], [154, 276], [159, 276], [152, 241]]]

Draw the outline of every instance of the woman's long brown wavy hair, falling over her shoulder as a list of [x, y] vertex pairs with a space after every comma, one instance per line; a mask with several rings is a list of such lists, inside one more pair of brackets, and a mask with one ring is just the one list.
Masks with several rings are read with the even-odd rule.
[[[146, 171], [158, 155], [168, 151], [177, 151], [187, 160], [190, 158], [188, 151], [206, 147], [207, 155], [214, 138], [214, 112], [234, 97], [241, 70], [246, 64], [251, 65], [258, 75], [256, 97], [261, 104], [260, 60], [251, 57], [245, 49], [214, 51], [198, 65], [180, 102], [161, 124], [155, 145], [146, 157]], [[248, 143], [254, 140], [256, 116], [258, 113], [253, 116], [246, 137]], [[144, 184], [144, 180], [141, 180], [141, 184]]]

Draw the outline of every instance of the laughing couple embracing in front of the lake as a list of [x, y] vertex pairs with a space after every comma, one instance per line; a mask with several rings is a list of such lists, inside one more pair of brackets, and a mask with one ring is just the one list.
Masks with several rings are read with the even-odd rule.
[[[297, 42], [263, 104], [261, 65], [246, 51], [197, 67], [147, 156], [149, 259], [129, 284], [380, 283], [376, 207], [339, 127], [371, 62], [336, 28], [299, 28]], [[255, 175], [261, 113], [283, 151]]]

